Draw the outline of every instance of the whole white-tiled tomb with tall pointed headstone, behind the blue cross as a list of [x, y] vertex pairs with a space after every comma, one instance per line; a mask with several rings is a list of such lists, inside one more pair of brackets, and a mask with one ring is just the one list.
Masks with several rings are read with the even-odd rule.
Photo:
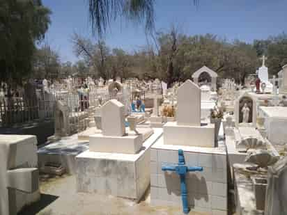
[[215, 148], [214, 125], [201, 124], [201, 90], [196, 84], [185, 81], [177, 97], [176, 122], [166, 122], [163, 136], [151, 148], [150, 202], [152, 205], [182, 205], [181, 176], [166, 168], [178, 166], [182, 150], [185, 166], [203, 167], [202, 172], [185, 173], [187, 207], [206, 214], [227, 214], [224, 143], [219, 141]]

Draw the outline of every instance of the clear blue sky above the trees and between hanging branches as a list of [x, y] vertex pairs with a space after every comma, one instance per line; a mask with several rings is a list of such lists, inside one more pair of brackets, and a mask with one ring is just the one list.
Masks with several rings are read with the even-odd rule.
[[[61, 61], [75, 63], [71, 37], [79, 33], [93, 40], [88, 21], [88, 0], [42, 0], [52, 10], [46, 41]], [[168, 31], [171, 24], [187, 35], [212, 33], [228, 41], [253, 42], [287, 32], [287, 0], [155, 0], [155, 28]], [[146, 45], [143, 25], [118, 19], [105, 35], [107, 45], [132, 52]]]

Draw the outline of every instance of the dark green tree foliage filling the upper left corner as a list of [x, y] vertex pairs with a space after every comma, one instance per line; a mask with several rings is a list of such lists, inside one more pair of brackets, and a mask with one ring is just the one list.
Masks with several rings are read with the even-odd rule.
[[35, 43], [44, 38], [50, 10], [40, 0], [0, 2], [0, 80], [21, 83], [31, 74]]

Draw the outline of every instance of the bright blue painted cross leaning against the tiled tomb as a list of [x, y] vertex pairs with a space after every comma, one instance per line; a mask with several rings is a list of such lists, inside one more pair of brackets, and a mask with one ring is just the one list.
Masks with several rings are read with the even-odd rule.
[[180, 191], [181, 199], [183, 200], [183, 212], [185, 214], [189, 213], [189, 207], [187, 204], [187, 186], [185, 183], [185, 176], [188, 172], [202, 171], [201, 166], [186, 166], [185, 157], [183, 155], [183, 150], [178, 150], [178, 165], [171, 164], [169, 166], [162, 165], [163, 171], [175, 171], [180, 176]]

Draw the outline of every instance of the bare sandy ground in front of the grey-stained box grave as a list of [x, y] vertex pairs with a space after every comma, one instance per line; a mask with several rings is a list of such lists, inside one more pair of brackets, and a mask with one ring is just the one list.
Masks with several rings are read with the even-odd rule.
[[[159, 207], [150, 205], [150, 189], [139, 201], [125, 198], [97, 195], [95, 193], [78, 193], [75, 175], [40, 175], [41, 199], [24, 207], [18, 215], [123, 215], [123, 214], [158, 214], [180, 215], [181, 207]], [[233, 202], [230, 202], [231, 207]], [[233, 209], [231, 209], [232, 211]], [[205, 215], [189, 212], [190, 215]], [[233, 214], [230, 212], [229, 214]]]

